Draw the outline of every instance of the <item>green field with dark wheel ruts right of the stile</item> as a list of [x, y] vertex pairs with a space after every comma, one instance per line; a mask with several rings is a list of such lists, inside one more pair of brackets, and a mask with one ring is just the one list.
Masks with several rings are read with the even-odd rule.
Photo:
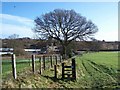
[[[80, 82], [90, 87], [114, 87], [117, 84], [118, 53], [97, 52], [77, 56]], [[82, 78], [82, 79], [81, 79]]]

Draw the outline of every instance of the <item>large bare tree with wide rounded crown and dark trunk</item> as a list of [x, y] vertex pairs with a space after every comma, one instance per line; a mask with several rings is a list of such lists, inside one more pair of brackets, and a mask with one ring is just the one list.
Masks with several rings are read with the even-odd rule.
[[87, 21], [85, 17], [74, 10], [55, 9], [37, 17], [34, 31], [41, 38], [54, 38], [63, 47], [63, 54], [66, 57], [66, 48], [73, 40], [85, 40], [93, 38], [98, 31], [97, 26], [92, 21]]

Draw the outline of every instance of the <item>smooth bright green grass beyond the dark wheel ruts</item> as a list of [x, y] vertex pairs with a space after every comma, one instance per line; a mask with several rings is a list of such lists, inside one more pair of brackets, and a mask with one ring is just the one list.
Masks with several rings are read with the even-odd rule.
[[97, 52], [88, 53], [82, 57], [83, 59], [92, 60], [97, 64], [106, 65], [114, 69], [118, 68], [118, 53], [117, 52]]

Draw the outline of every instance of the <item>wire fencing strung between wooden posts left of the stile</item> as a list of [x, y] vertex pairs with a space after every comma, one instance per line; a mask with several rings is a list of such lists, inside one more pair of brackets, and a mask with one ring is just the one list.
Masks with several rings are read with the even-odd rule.
[[[15, 60], [15, 63], [12, 62]], [[60, 63], [62, 61], [62, 56], [58, 54], [45, 54], [45, 55], [35, 55], [34, 65], [35, 67], [41, 67], [41, 70], [52, 68], [53, 65]], [[40, 64], [41, 63], [41, 64]], [[15, 64], [15, 66], [14, 66]], [[32, 56], [12, 56], [4, 57], [2, 59], [2, 78], [7, 78], [9, 75], [14, 77], [14, 73], [22, 72], [25, 69], [33, 70]], [[16, 72], [14, 71], [16, 69]], [[36, 70], [37, 68], [35, 68]], [[15, 78], [15, 77], [14, 77]]]

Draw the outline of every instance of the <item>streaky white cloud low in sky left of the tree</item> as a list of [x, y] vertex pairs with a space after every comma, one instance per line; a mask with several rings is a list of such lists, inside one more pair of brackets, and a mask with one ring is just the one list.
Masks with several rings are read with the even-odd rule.
[[33, 37], [33, 20], [8, 14], [0, 14], [0, 19], [2, 19], [0, 26], [2, 28], [2, 38], [12, 34], [18, 34], [20, 37]]

